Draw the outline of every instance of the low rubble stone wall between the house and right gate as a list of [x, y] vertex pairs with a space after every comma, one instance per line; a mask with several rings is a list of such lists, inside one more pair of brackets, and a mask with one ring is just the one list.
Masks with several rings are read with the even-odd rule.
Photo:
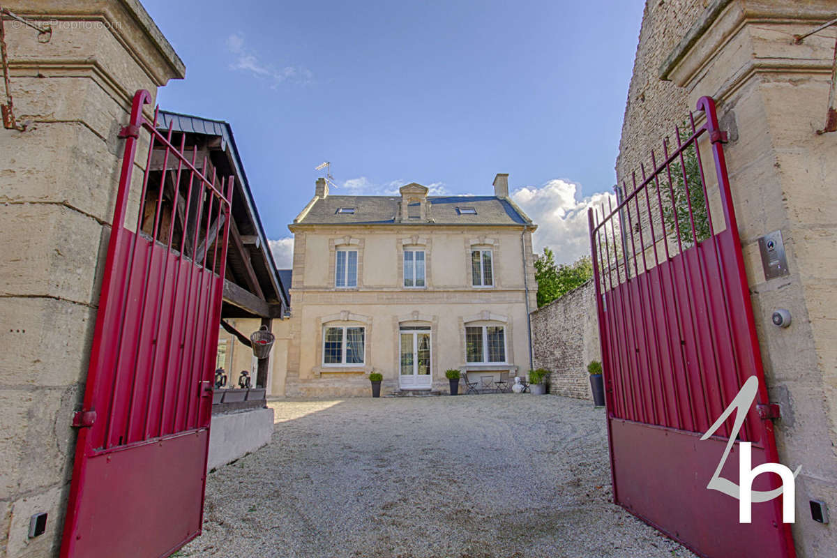
[[602, 360], [593, 281], [531, 313], [531, 344], [535, 368], [552, 371], [552, 395], [593, 399], [587, 365]]

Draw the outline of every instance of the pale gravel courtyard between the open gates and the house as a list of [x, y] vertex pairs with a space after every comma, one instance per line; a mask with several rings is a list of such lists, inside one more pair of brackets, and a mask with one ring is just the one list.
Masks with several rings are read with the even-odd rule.
[[178, 556], [693, 556], [611, 504], [603, 409], [553, 396], [271, 402]]

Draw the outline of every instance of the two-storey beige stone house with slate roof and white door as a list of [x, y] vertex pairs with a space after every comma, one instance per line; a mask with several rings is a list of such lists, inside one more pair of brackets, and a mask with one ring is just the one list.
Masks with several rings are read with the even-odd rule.
[[[499, 379], [531, 367], [529, 310], [537, 225], [508, 196], [333, 196], [318, 179], [295, 234], [284, 389], [274, 394], [367, 395], [447, 389], [457, 368]], [[485, 377], [488, 381], [489, 378]]]

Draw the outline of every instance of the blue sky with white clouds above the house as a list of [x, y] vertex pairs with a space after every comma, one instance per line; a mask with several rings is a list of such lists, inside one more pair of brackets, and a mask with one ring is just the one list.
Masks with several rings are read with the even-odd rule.
[[331, 161], [334, 194], [408, 182], [512, 197], [559, 262], [614, 161], [644, 0], [142, 0], [187, 67], [163, 109], [227, 120], [277, 264]]

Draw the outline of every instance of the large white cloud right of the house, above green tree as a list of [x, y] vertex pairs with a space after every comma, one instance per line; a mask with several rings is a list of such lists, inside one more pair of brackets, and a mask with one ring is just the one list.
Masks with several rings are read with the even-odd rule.
[[578, 189], [578, 184], [555, 179], [542, 187], [522, 187], [511, 193], [511, 199], [537, 223], [532, 248], [536, 253], [542, 253], [544, 246], [552, 248], [557, 264], [569, 264], [590, 253], [588, 207], [600, 209], [602, 203], [607, 207], [608, 198], [616, 202], [608, 192], [579, 200]]

